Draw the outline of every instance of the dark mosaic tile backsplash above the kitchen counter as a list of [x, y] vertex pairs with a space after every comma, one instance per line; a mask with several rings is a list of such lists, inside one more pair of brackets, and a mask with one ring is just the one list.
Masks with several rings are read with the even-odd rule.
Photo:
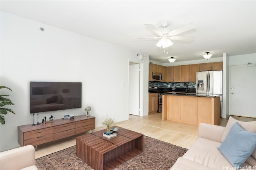
[[160, 88], [172, 88], [173, 90], [175, 88], [186, 88], [186, 83], [188, 85], [188, 88], [196, 88], [196, 82], [148, 82], [148, 86], [157, 86]]

